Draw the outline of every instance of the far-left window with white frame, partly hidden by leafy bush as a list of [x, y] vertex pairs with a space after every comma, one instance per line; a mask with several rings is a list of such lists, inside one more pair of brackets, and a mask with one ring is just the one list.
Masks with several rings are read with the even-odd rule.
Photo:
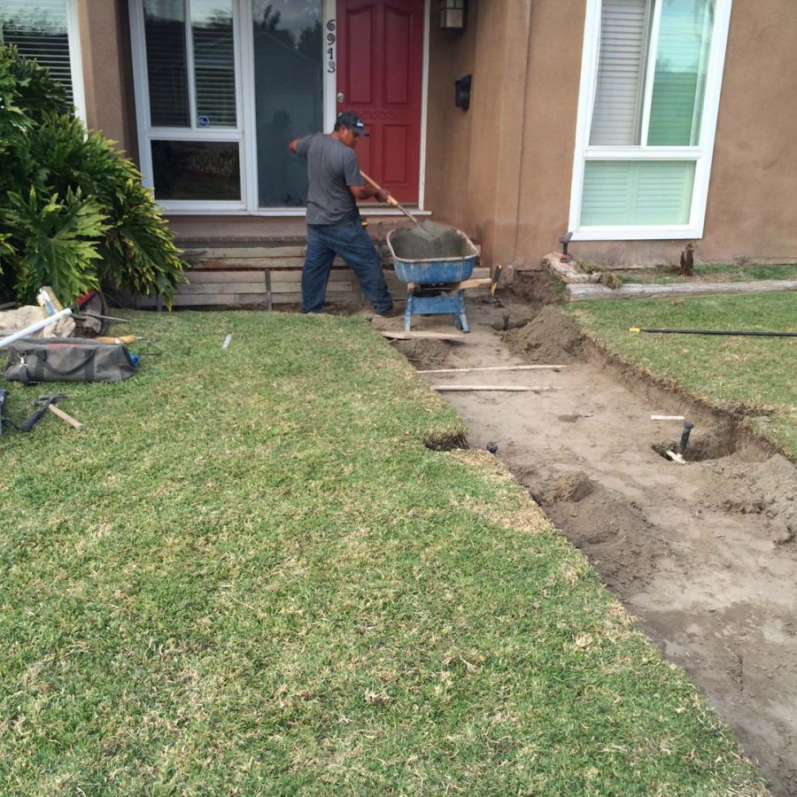
[[0, 41], [50, 68], [85, 120], [80, 44], [74, 0], [0, 0]]

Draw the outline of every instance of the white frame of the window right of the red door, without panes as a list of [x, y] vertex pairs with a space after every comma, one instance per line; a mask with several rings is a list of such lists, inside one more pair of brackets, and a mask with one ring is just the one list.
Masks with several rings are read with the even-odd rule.
[[[592, 108], [598, 84], [598, 57], [600, 52], [600, 20], [602, 0], [587, 0], [584, 20], [584, 50], [581, 65], [581, 84], [578, 90], [578, 120], [576, 122], [576, 152], [573, 161], [573, 182], [570, 190], [569, 229], [574, 241], [638, 241], [701, 238], [706, 220], [708, 183], [711, 175], [711, 160], [714, 155], [716, 118], [719, 112], [720, 93], [723, 85], [725, 50], [731, 26], [732, 0], [717, 0], [714, 33], [708, 57], [708, 74], [703, 99], [703, 120], [700, 142], [689, 147], [607, 147], [591, 146], [590, 128]], [[662, 3], [657, 2], [652, 22], [651, 41], [648, 52], [647, 85], [652, 86], [656, 67], [656, 43], [661, 21]], [[646, 92], [646, 104], [642, 117], [642, 137], [647, 140], [650, 123], [650, 104], [653, 92]], [[588, 160], [636, 160], [636, 161], [693, 161], [695, 164], [692, 192], [692, 209], [687, 224], [650, 226], [602, 226], [587, 227], [581, 224], [581, 203], [584, 192], [584, 165]]]

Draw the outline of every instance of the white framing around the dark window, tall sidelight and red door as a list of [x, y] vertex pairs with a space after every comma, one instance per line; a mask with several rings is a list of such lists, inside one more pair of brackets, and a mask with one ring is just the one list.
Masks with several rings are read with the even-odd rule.
[[[67, 0], [74, 4], [76, 0]], [[423, 66], [421, 100], [421, 159], [419, 168], [418, 205], [423, 211], [426, 170], [426, 125], [429, 104], [429, 4], [423, 4]], [[143, 0], [128, 0], [130, 13], [130, 38], [133, 50], [133, 81], [135, 87], [135, 120], [138, 128], [139, 166], [143, 184], [153, 190], [151, 141], [237, 141], [240, 147], [241, 201], [213, 200], [165, 200], [158, 203], [166, 213], [172, 215], [251, 215], [270, 217], [304, 217], [303, 207], [259, 207], [258, 153], [255, 140], [255, 85], [254, 85], [254, 31], [252, 28], [251, 0], [234, 0], [233, 29], [236, 43], [236, 128], [196, 129], [192, 117], [191, 128], [153, 128], [150, 124], [150, 89], [144, 38]], [[337, 0], [323, 0], [324, 59], [323, 72], [323, 125], [332, 129], [337, 116]], [[187, 15], [188, 16], [188, 15]], [[186, 20], [190, 25], [190, 19]], [[330, 27], [331, 26], [331, 27]], [[328, 43], [327, 35], [335, 35]], [[332, 47], [332, 58], [327, 52]], [[188, 52], [190, 107], [195, 102], [193, 92], [193, 69], [190, 66], [193, 53]], [[331, 66], [331, 71], [330, 67]], [[81, 84], [82, 85], [82, 84]], [[368, 207], [368, 215], [398, 215], [393, 207]]]

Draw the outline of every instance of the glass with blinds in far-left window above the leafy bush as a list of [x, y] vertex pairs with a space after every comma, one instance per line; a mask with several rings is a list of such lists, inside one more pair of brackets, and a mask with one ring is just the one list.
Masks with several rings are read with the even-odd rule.
[[72, 70], [66, 34], [66, 0], [0, 0], [0, 41], [50, 68], [72, 100]]

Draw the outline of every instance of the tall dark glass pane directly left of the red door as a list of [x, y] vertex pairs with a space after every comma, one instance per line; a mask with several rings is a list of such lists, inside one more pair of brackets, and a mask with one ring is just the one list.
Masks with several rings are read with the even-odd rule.
[[302, 206], [307, 166], [288, 143], [323, 127], [321, 0], [254, 0], [253, 12], [259, 205]]

